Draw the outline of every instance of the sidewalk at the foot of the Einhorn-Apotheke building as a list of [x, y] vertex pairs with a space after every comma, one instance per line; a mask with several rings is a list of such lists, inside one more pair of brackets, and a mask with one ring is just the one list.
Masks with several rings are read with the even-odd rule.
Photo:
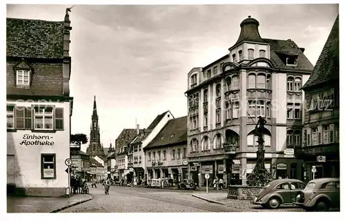
[[88, 194], [75, 194], [70, 198], [7, 196], [7, 212], [56, 213], [89, 200], [92, 200], [92, 196]]

